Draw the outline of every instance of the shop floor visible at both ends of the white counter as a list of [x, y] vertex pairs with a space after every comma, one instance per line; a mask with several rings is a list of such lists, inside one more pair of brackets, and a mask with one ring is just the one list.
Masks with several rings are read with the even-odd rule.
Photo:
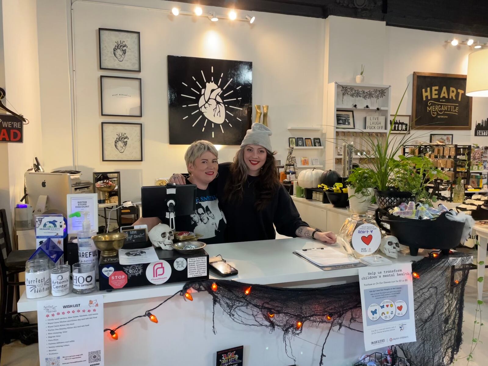
[[[488, 274], [485, 276], [485, 284], [488, 282]], [[487, 289], [488, 285], [485, 285]], [[469, 366], [487, 365], [488, 360], [488, 294], [484, 296], [485, 303], [481, 305], [482, 316], [484, 317], [485, 326], [482, 327], [480, 339], [484, 342], [479, 344], [474, 351], [474, 362]], [[464, 323], [463, 333], [465, 343], [461, 346], [458, 357], [466, 356], [471, 347], [474, 326], [474, 315], [476, 309], [476, 271], [469, 272], [468, 285], [465, 293]], [[456, 366], [467, 365], [466, 358], [455, 363]], [[3, 346], [1, 356], [1, 366], [39, 366], [38, 344], [24, 346], [19, 341]], [[111, 365], [107, 365], [111, 366]], [[120, 365], [122, 366], [122, 365]], [[302, 366], [302, 365], [300, 365]]]

